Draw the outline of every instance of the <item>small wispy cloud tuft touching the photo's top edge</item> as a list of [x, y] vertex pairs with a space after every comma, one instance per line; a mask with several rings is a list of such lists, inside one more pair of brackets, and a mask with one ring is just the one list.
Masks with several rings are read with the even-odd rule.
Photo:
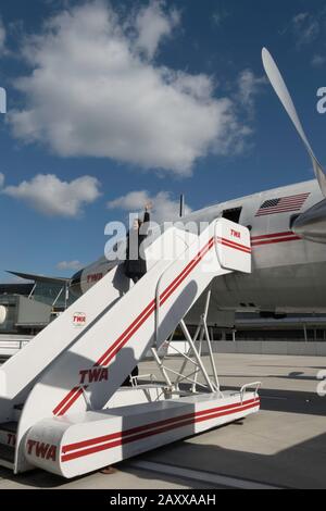
[[163, 37], [172, 35], [179, 23], [179, 13], [172, 9], [164, 12], [165, 2], [152, 1], [143, 7], [136, 16], [137, 47], [152, 59]]

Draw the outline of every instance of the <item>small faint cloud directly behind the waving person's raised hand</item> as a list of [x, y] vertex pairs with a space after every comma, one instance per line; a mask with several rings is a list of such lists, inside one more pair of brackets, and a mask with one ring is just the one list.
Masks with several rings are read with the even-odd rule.
[[[142, 211], [145, 204], [152, 202], [152, 220], [158, 223], [171, 222], [179, 215], [179, 201], [174, 200], [168, 191], [160, 191], [155, 196], [151, 196], [146, 190], [130, 191], [129, 194], [118, 197], [108, 202], [111, 210], [120, 209], [127, 212]], [[186, 205], [185, 214], [191, 213], [191, 209]]]

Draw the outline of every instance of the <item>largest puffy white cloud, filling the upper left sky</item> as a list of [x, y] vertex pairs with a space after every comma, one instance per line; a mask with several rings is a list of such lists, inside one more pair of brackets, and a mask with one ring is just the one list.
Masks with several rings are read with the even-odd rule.
[[61, 157], [111, 158], [178, 175], [191, 174], [209, 152], [234, 154], [249, 133], [235, 101], [216, 99], [208, 75], [151, 60], [176, 26], [175, 11], [154, 2], [133, 20], [134, 30], [108, 4], [90, 2], [30, 37], [23, 51], [32, 72], [15, 83], [26, 107], [8, 116], [14, 136]]

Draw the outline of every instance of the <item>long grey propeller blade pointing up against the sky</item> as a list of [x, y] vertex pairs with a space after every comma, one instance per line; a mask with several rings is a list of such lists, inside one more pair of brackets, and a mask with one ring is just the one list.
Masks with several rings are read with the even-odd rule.
[[306, 138], [306, 135], [303, 130], [301, 121], [299, 119], [299, 115], [297, 113], [296, 107], [293, 104], [292, 98], [288, 91], [288, 88], [283, 79], [283, 76], [273, 59], [268, 50], [266, 48], [263, 48], [262, 50], [262, 58], [263, 58], [263, 65], [266, 72], [266, 75], [272, 84], [272, 87], [274, 88], [276, 95], [278, 96], [281, 104], [284, 105], [285, 110], [287, 111], [290, 120], [292, 121], [301, 140], [303, 141], [305, 149], [309, 152], [309, 155], [312, 160], [313, 167], [315, 171], [316, 178], [319, 183], [321, 190], [323, 192], [323, 196], [326, 197], [326, 175], [324, 172], [324, 169], [322, 167], [321, 163], [316, 159], [312, 147]]

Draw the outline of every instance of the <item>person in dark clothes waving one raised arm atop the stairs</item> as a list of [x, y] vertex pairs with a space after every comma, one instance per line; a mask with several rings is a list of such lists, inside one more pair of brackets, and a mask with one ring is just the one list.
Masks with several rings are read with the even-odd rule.
[[142, 242], [148, 236], [151, 209], [152, 203], [147, 203], [145, 207], [143, 221], [141, 222], [140, 219], [136, 219], [127, 237], [125, 274], [135, 284], [147, 273]]

